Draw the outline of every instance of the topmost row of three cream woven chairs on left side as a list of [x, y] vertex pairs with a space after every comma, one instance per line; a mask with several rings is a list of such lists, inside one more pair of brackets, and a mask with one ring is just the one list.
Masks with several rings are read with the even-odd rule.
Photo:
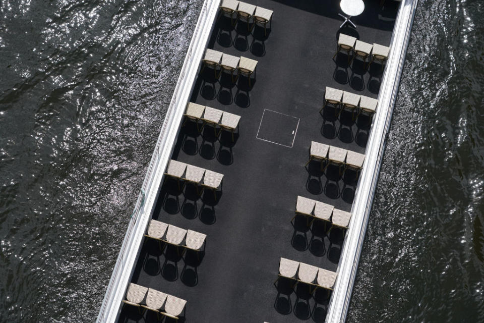
[[230, 17], [232, 26], [235, 25], [233, 22], [235, 15], [235, 22], [239, 20], [245, 21], [247, 23], [247, 30], [249, 31], [251, 31], [255, 25], [264, 27], [264, 36], [267, 35], [266, 26], [268, 23], [270, 23], [270, 29], [272, 29], [272, 14], [274, 12], [269, 9], [237, 0], [222, 0], [222, 3], [220, 4], [220, 13], [226, 17]]

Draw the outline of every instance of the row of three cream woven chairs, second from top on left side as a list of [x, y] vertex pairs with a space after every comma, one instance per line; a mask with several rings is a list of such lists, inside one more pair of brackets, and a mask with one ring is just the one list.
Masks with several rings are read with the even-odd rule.
[[[251, 76], [256, 72], [257, 61], [248, 59], [244, 56], [232, 56], [218, 50], [207, 48], [203, 58], [204, 66], [202, 70], [208, 66], [213, 69], [215, 78], [218, 79], [223, 71], [230, 73], [232, 82], [236, 81], [239, 75], [245, 75], [249, 79], [249, 86], [251, 86]], [[219, 73], [217, 71], [219, 70]], [[237, 70], [237, 77], [233, 78], [233, 72]]]

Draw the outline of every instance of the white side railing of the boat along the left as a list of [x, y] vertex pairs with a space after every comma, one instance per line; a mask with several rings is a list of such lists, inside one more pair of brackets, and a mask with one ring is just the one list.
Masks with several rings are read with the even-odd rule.
[[113, 273], [104, 295], [97, 323], [114, 322], [119, 313], [121, 300], [131, 279], [132, 269], [136, 263], [141, 239], [152, 215], [163, 171], [168, 164], [179, 131], [180, 120], [194, 85], [194, 80], [203, 53], [207, 46], [220, 0], [205, 0], [190, 42], [185, 62], [181, 68], [173, 91], [163, 126], [155, 145], [148, 166], [142, 189], [135, 205], [135, 210], [128, 224], [121, 250], [114, 265]]

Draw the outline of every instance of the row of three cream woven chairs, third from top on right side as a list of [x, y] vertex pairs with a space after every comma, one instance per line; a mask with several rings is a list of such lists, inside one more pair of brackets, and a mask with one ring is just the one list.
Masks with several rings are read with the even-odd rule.
[[[306, 163], [308, 166], [312, 160], [321, 161], [321, 170], [326, 170], [329, 165], [335, 165], [339, 168], [341, 174], [341, 167], [344, 170], [352, 170], [356, 172], [356, 180], [358, 179], [359, 171], [363, 168], [363, 162], [365, 161], [365, 154], [358, 153], [352, 150], [330, 146], [324, 143], [311, 141], [311, 147], [309, 149], [309, 160]], [[323, 163], [326, 166], [323, 167]]]

